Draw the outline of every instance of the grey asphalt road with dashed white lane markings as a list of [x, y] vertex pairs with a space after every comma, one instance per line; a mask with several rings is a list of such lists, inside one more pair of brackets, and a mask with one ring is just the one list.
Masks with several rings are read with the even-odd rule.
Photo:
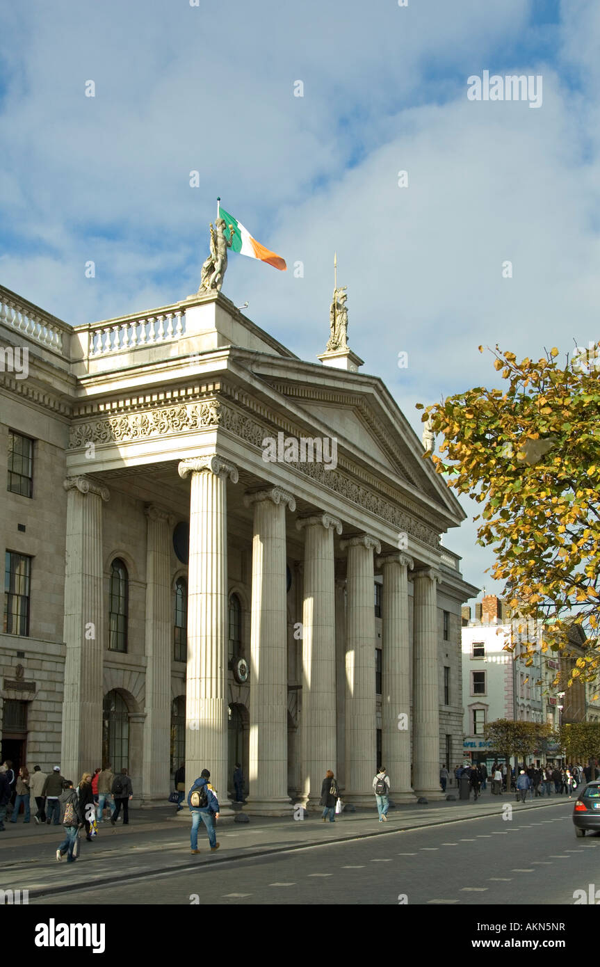
[[[236, 858], [230, 847], [227, 863], [130, 882], [119, 872], [111, 886], [79, 886], [30, 903], [180, 905], [199, 894], [201, 902], [210, 897], [221, 905], [572, 905], [576, 890], [600, 887], [600, 836], [576, 839], [572, 808], [514, 806], [507, 819], [488, 816], [263, 858]], [[200, 845], [206, 861], [206, 839]], [[118, 871], [118, 854], [114, 861]]]

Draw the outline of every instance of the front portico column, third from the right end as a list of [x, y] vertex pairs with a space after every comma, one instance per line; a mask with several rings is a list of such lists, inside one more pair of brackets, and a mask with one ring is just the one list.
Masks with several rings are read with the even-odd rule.
[[340, 546], [348, 548], [344, 801], [373, 806], [377, 767], [373, 551], [379, 554], [382, 548], [367, 534], [342, 541]]

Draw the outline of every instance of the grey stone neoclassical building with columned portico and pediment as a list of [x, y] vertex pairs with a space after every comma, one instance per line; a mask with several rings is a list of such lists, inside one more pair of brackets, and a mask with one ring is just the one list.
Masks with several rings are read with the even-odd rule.
[[[19, 356], [19, 350], [20, 356]], [[27, 350], [23, 353], [23, 350]], [[72, 327], [0, 288], [2, 755], [163, 804], [440, 794], [461, 756], [464, 519], [382, 381], [221, 293]], [[26, 365], [25, 365], [26, 364]]]

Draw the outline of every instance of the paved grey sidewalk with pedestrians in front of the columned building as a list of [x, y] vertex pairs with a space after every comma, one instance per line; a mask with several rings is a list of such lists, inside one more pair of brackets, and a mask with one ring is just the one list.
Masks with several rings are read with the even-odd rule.
[[[449, 792], [453, 794], [452, 789]], [[174, 806], [158, 806], [130, 810], [126, 827], [121, 823], [112, 827], [104, 821], [100, 824], [100, 835], [93, 842], [82, 839], [79, 860], [69, 866], [65, 862], [58, 864], [55, 859], [56, 848], [63, 838], [62, 827], [37, 826], [33, 817], [29, 825], [23, 825], [19, 817], [16, 824], [7, 823], [6, 832], [0, 833], [0, 889], [28, 890], [30, 902], [54, 895], [57, 902], [71, 903], [73, 892], [114, 887], [116, 874], [119, 880], [132, 883], [166, 873], [193, 873], [198, 866], [265, 859], [334, 843], [350, 845], [352, 841], [385, 839], [400, 832], [431, 829], [433, 833], [434, 828], [477, 819], [494, 819], [498, 824], [500, 818], [503, 824], [508, 815], [512, 819], [513, 815], [515, 818], [520, 814], [540, 815], [544, 810], [549, 810], [551, 815], [559, 807], [570, 818], [572, 803], [569, 804], [566, 796], [553, 794], [517, 804], [514, 794], [492, 796], [488, 787], [474, 803], [457, 800], [396, 806], [390, 809], [386, 823], [379, 823], [375, 807], [337, 816], [335, 823], [323, 823], [320, 813], [311, 813], [302, 820], [292, 816], [272, 819], [250, 816], [247, 824], [217, 822], [220, 848], [215, 853], [209, 851], [206, 833], [200, 827], [201, 853], [192, 856], [188, 814], [184, 820], [182, 813], [177, 816]], [[112, 895], [112, 891], [108, 890], [108, 894]]]

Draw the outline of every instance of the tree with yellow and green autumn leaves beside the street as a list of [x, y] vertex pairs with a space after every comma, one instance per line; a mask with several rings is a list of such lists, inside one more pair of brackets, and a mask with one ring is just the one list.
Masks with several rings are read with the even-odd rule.
[[[483, 347], [479, 346], [483, 352]], [[508, 605], [542, 622], [542, 651], [569, 653], [580, 625], [574, 679], [598, 677], [600, 648], [600, 342], [564, 367], [553, 348], [537, 361], [492, 350], [503, 390], [475, 387], [423, 407], [443, 434], [438, 473], [483, 504], [477, 543], [492, 546], [492, 575]], [[535, 645], [529, 648], [528, 663]]]

